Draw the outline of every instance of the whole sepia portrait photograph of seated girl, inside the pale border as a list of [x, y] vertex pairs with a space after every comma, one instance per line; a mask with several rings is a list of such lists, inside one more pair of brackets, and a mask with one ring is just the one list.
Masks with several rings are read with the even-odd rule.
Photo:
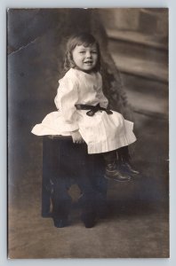
[[167, 8], [9, 8], [9, 259], [169, 258]]

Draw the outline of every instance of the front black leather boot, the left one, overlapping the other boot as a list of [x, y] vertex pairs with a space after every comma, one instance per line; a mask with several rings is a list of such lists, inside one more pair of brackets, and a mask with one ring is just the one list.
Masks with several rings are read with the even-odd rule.
[[105, 178], [112, 179], [118, 182], [128, 182], [131, 180], [131, 176], [119, 171], [116, 160], [107, 161]]

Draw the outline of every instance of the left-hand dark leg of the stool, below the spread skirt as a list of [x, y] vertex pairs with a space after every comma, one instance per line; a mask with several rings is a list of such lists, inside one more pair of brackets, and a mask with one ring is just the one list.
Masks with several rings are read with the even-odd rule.
[[60, 141], [44, 137], [43, 144], [42, 215], [52, 216], [54, 225], [63, 227], [66, 223], [60, 220], [68, 219], [71, 198], [68, 178], [60, 171]]

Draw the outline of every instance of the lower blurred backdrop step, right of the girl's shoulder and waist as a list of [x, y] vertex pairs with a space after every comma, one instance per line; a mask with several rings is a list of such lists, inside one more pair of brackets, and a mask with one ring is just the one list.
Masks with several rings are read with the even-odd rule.
[[168, 119], [168, 84], [129, 74], [121, 74], [121, 77], [128, 102], [134, 112]]

